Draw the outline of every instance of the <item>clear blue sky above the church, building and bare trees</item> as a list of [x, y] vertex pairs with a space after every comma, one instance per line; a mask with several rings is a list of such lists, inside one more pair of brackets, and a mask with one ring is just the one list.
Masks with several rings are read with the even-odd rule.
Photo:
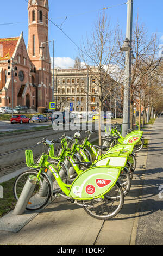
[[[2, 1], [0, 16], [0, 38], [19, 36], [21, 31], [24, 34], [24, 40], [28, 42], [28, 10], [25, 0]], [[101, 8], [112, 7], [105, 10], [112, 25], [118, 22], [126, 34], [127, 0], [48, 0], [49, 19], [58, 26], [61, 25], [64, 31], [78, 46], [82, 43], [86, 34], [92, 30], [92, 26], [97, 20]], [[123, 5], [120, 5], [123, 4]], [[120, 6], [115, 6], [120, 5]], [[115, 7], [114, 7], [115, 6]], [[160, 44], [163, 44], [163, 26], [162, 26], [162, 0], [134, 0], [133, 22], [135, 23], [137, 13], [139, 13], [140, 22], [145, 23], [149, 35], [157, 32], [160, 38]], [[65, 17], [67, 19], [65, 20]], [[65, 21], [64, 21], [65, 20]], [[2, 25], [4, 23], [20, 22], [13, 25]], [[162, 37], [162, 38], [161, 38]], [[73, 42], [65, 36], [55, 25], [49, 22], [49, 40], [54, 39], [55, 44], [55, 65], [73, 65], [73, 60], [78, 56], [78, 48]], [[49, 45], [52, 56], [52, 44]]]

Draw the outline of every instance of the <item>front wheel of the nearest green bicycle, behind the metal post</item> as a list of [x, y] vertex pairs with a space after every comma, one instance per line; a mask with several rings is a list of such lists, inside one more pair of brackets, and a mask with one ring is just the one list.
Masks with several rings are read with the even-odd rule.
[[[15, 199], [21, 195], [21, 192], [26, 184], [29, 175], [37, 176], [38, 172], [36, 170], [27, 170], [21, 173], [15, 180], [13, 191]], [[44, 174], [40, 175], [40, 180], [37, 182], [35, 190], [29, 199], [26, 209], [30, 211], [39, 210], [48, 203], [51, 197], [51, 185]]]

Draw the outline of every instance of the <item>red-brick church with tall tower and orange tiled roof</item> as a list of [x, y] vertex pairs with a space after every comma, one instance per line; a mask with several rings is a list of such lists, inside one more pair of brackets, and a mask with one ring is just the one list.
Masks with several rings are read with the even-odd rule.
[[48, 11], [48, 0], [29, 1], [27, 48], [23, 32], [19, 37], [0, 39], [0, 107], [11, 107], [13, 100], [14, 107], [48, 108], [51, 58], [48, 43], [41, 44], [48, 41]]

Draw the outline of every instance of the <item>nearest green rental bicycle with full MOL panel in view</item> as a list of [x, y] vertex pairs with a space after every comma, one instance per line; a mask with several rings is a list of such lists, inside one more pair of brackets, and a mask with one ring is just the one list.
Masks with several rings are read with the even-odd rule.
[[[43, 140], [43, 143], [47, 147], [51, 146], [46, 140]], [[121, 167], [92, 167], [79, 174], [72, 184], [68, 184], [60, 178], [59, 172], [48, 162], [49, 151], [50, 147], [47, 154], [41, 155], [39, 163], [34, 164], [32, 150], [26, 150], [26, 163], [30, 169], [20, 174], [14, 184], [14, 196], [18, 200], [28, 176], [34, 175], [37, 178], [35, 190], [26, 209], [40, 209], [54, 195], [55, 197], [62, 196], [70, 202], [82, 206], [87, 214], [101, 220], [109, 220], [121, 211], [124, 195], [117, 182]], [[47, 170], [51, 171], [54, 179], [58, 182], [59, 190], [54, 191]], [[65, 173], [65, 180], [66, 178]]]

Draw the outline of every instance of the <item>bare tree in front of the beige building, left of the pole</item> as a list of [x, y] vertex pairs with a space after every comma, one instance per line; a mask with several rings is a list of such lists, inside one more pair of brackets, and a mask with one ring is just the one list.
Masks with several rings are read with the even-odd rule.
[[[99, 14], [90, 37], [83, 42], [81, 52], [89, 75], [95, 78], [96, 98], [99, 101], [99, 145], [101, 145], [101, 112], [113, 88], [120, 85], [122, 69], [118, 69], [118, 26], [111, 29], [106, 15]], [[116, 79], [115, 79], [116, 78]]]

